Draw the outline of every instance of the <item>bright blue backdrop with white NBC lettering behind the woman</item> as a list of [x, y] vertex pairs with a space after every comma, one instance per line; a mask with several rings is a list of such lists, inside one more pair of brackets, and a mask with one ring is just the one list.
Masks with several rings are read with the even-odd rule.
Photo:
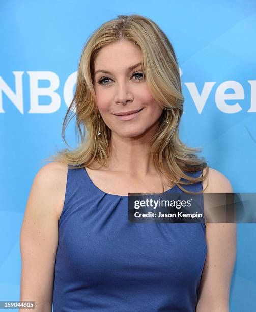
[[[256, 2], [0, 2], [0, 301], [19, 300], [19, 235], [43, 159], [65, 147], [61, 126], [90, 34], [121, 14], [155, 21], [172, 42], [185, 97], [180, 137], [203, 147], [234, 192], [256, 192]], [[76, 146], [74, 122], [67, 131]], [[238, 224], [231, 311], [255, 311], [256, 227]], [[227, 255], [228, 256], [228, 255]]]

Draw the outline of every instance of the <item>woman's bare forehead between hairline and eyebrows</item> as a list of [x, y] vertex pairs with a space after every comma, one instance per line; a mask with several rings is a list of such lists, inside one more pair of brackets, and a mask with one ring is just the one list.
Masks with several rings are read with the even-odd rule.
[[129, 41], [119, 41], [100, 49], [95, 59], [95, 71], [110, 67], [126, 68], [143, 61], [140, 48]]

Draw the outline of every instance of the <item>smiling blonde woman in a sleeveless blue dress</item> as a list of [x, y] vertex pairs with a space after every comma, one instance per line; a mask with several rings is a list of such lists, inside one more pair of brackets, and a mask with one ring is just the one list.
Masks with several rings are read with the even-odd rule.
[[183, 101], [153, 21], [122, 15], [94, 32], [63, 127], [75, 104], [81, 144], [39, 170], [27, 202], [20, 300], [38, 311], [52, 300], [54, 311], [229, 310], [233, 224], [128, 221], [128, 192], [232, 192], [180, 141]]

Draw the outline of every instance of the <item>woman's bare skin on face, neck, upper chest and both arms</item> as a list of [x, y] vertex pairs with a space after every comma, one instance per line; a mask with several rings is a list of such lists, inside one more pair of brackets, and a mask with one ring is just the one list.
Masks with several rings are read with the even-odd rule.
[[[91, 170], [90, 177], [107, 193], [161, 192], [159, 179], [149, 163], [149, 138], [156, 131], [162, 109], [153, 99], [147, 84], [132, 77], [127, 68], [142, 61], [139, 49], [129, 42], [102, 48], [95, 62], [95, 82], [104, 76], [106, 85], [95, 84], [100, 114], [112, 130], [109, 167]], [[137, 81], [138, 80], [138, 81]], [[131, 121], [118, 120], [112, 113], [144, 107]], [[104, 181], [104, 183], [102, 183]], [[22, 259], [20, 301], [36, 301], [36, 311], [52, 311], [54, 265], [58, 247], [58, 221], [63, 209], [67, 166], [51, 162], [36, 174], [27, 200], [20, 235]], [[206, 192], [233, 192], [230, 181], [210, 168], [203, 181]], [[109, 189], [110, 186], [110, 189]], [[144, 189], [141, 189], [143, 186]], [[164, 185], [165, 189], [169, 186]], [[206, 207], [207, 208], [207, 207]], [[236, 225], [206, 224], [208, 253], [203, 269], [196, 312], [229, 311], [230, 281], [236, 258]], [[29, 311], [29, 309], [27, 309]], [[26, 309], [22, 309], [22, 312]]]

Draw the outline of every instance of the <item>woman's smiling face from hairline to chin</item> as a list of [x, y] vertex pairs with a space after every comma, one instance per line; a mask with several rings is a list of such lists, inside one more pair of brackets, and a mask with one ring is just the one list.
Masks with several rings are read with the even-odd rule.
[[[152, 136], [156, 131], [162, 108], [150, 93], [142, 62], [139, 47], [129, 41], [103, 47], [95, 60], [97, 106], [112, 136]], [[138, 110], [132, 115], [117, 116]]]

